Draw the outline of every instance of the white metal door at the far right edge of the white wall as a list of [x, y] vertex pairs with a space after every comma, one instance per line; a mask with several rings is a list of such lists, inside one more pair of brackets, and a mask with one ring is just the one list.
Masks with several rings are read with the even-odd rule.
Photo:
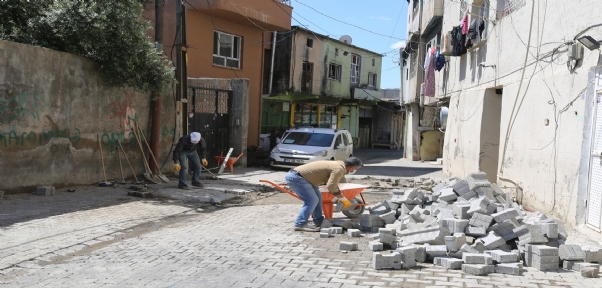
[[[597, 87], [602, 88], [602, 75], [596, 75]], [[594, 128], [590, 153], [587, 226], [600, 232], [602, 224], [602, 92], [596, 94]]]

